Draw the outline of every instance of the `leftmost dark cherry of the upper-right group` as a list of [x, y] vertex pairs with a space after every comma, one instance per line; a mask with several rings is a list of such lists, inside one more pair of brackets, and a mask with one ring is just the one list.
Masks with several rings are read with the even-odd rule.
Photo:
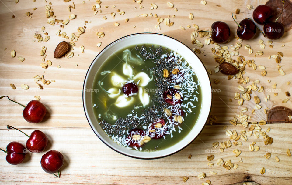
[[228, 24], [222, 21], [216, 21], [212, 24], [211, 29], [211, 38], [214, 42], [220, 44], [228, 41], [231, 34]]

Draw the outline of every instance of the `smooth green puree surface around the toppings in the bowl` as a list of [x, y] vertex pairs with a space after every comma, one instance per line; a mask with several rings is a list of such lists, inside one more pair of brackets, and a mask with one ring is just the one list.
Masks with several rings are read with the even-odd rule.
[[[138, 47], [140, 48], [142, 45], [138, 45]], [[146, 48], [151, 47], [152, 45], [150, 44], [146, 44], [144, 45]], [[159, 46], [154, 45], [154, 48], [158, 48]], [[124, 51], [126, 49], [129, 49], [131, 56], [133, 56], [135, 59], [137, 60], [143, 60], [144, 62], [141, 65], [138, 65], [135, 63], [135, 61], [133, 62], [127, 62], [128, 65], [130, 65], [132, 67], [133, 70], [133, 75], [132, 76], [128, 76], [125, 75], [123, 73], [123, 66], [126, 63], [126, 61], [123, 59], [123, 54]], [[171, 50], [169, 49], [165, 49], [162, 48], [162, 54], [167, 53], [168, 55], [170, 54]], [[161, 55], [159, 56], [159, 58], [161, 57]], [[141, 58], [137, 57], [140, 56]], [[182, 61], [184, 59], [181, 59]], [[94, 83], [92, 85], [92, 90], [91, 91], [91, 97], [92, 97], [92, 107], [93, 107], [93, 111], [95, 113], [96, 119], [98, 119], [98, 121], [105, 121], [111, 125], [116, 125], [116, 121], [119, 118], [127, 118], [128, 115], [133, 114], [132, 110], [134, 110], [135, 114], [137, 114], [137, 117], [141, 117], [141, 115], [143, 113], [145, 113], [145, 110], [147, 110], [149, 107], [152, 107], [154, 105], [159, 106], [159, 103], [157, 102], [157, 94], [156, 90], [157, 90], [157, 86], [155, 85], [155, 74], [153, 74], [153, 70], [149, 70], [153, 67], [155, 67], [155, 63], [152, 62], [152, 59], [148, 59], [145, 60], [143, 56], [141, 56], [141, 54], [139, 54], [139, 52], [135, 49], [135, 45], [134, 46], [130, 46], [128, 48], [123, 48], [115, 53], [113, 53], [108, 59], [106, 59], [106, 61], [103, 62], [102, 66], [99, 68], [99, 70], [96, 73], [95, 79], [94, 79]], [[187, 65], [188, 66], [188, 65]], [[133, 83], [135, 83], [138, 88], [141, 87], [140, 85], [142, 84], [142, 80], [140, 80], [140, 85], [138, 84], [138, 79], [135, 79], [135, 76], [140, 73], [140, 72], [144, 72], [148, 75], [148, 77], [150, 78], [150, 81], [148, 82], [148, 84], [146, 86], [143, 86], [143, 91], [145, 92], [145, 94], [149, 95], [149, 103], [146, 106], [143, 106], [142, 101], [139, 98], [138, 93], [134, 94], [130, 97], [128, 97], [127, 99], [130, 100], [130, 98], [132, 98], [132, 103], [130, 103], [130, 105], [125, 106], [125, 107], [118, 107], [116, 105], [117, 99], [119, 96], [123, 96], [123, 92], [121, 91], [119, 93], [119, 95], [116, 95], [116, 97], [109, 97], [109, 89], [111, 88], [115, 88], [116, 90], [122, 90], [121, 86], [115, 86], [113, 85], [112, 82], [112, 76], [114, 74], [117, 74], [118, 76], [120, 76], [123, 80], [125, 80], [124, 84], [126, 84], [126, 81], [131, 81], [133, 80]], [[169, 75], [171, 74], [171, 71], [169, 71]], [[152, 78], [153, 77], [153, 78]], [[151, 79], [152, 78], [152, 79]], [[164, 78], [163, 77], [163, 73], [161, 74], [160, 78]], [[196, 77], [196, 75], [193, 75], [193, 82], [199, 83], [198, 79]], [[124, 85], [123, 84], [123, 85]], [[173, 87], [173, 86], [170, 86]], [[141, 89], [139, 89], [140, 91]], [[167, 89], [164, 89], [167, 90]], [[191, 95], [191, 97], [189, 97], [188, 100], [183, 100], [183, 103], [187, 103], [188, 101], [192, 102], [193, 106], [196, 106], [196, 108], [192, 108], [192, 106], [189, 105], [189, 108], [191, 108], [192, 112], [189, 113], [187, 108], [181, 107], [182, 110], [184, 110], [184, 112], [187, 114], [187, 116], [184, 116], [184, 121], [183, 123], [179, 124], [179, 127], [182, 128], [182, 130], [180, 130], [177, 126], [175, 126], [175, 130], [176, 131], [172, 131], [172, 138], [170, 134], [165, 135], [165, 139], [162, 137], [160, 139], [152, 139], [148, 142], [148, 143], [144, 143], [144, 145], [142, 145], [142, 150], [141, 151], [145, 151], [145, 152], [151, 152], [151, 151], [155, 151], [155, 150], [162, 150], [165, 149], [169, 146], [172, 146], [174, 144], [176, 144], [177, 142], [179, 142], [183, 137], [185, 137], [189, 131], [193, 128], [193, 126], [196, 123], [196, 120], [200, 114], [200, 109], [201, 109], [201, 89], [200, 89], [200, 85], [198, 85], [196, 92], [192, 92], [192, 93], [188, 93], [187, 90], [183, 90], [183, 89], [178, 89], [180, 92], [184, 91], [184, 93], [182, 94], [183, 97], [182, 99], [185, 97], [185, 95]], [[115, 92], [117, 93], [117, 92]], [[197, 101], [193, 101], [193, 96], [196, 95], [197, 97]], [[190, 100], [191, 99], [191, 100]], [[166, 107], [168, 107], [169, 105], [167, 105]], [[165, 107], [165, 108], [166, 108]], [[158, 113], [158, 115], [163, 116], [162, 118], [165, 120], [166, 124], [169, 124], [165, 115], [163, 114], [163, 112]], [[134, 116], [134, 114], [133, 114]], [[156, 119], [156, 118], [153, 118]], [[142, 126], [138, 126], [138, 128], [143, 129], [143, 130], [147, 130], [148, 125], [151, 124], [152, 122], [149, 122], [147, 124], [144, 124], [144, 128]], [[127, 128], [127, 127], [126, 127]], [[133, 129], [135, 127], [131, 127], [129, 129]], [[107, 129], [105, 129], [107, 130]], [[122, 129], [123, 130], [123, 129]], [[126, 129], [127, 130], [127, 129]], [[178, 132], [180, 130], [180, 133]], [[169, 130], [170, 131], [170, 130]], [[106, 132], [108, 133], [108, 132]], [[121, 135], [125, 135], [125, 137], [127, 137], [127, 132], [122, 133]], [[110, 135], [110, 137], [112, 137], [112, 135]], [[139, 149], [139, 147], [138, 147]], [[135, 149], [134, 149], [135, 150]]]

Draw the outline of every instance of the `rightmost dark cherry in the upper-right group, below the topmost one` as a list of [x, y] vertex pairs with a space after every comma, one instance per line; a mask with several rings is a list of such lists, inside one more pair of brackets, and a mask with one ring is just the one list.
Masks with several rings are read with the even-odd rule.
[[269, 39], [280, 39], [284, 32], [284, 26], [281, 22], [269, 22], [264, 25], [264, 33]]

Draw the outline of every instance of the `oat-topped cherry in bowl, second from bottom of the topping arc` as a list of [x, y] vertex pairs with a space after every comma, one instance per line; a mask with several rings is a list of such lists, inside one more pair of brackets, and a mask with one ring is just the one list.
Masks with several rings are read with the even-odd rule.
[[[160, 124], [158, 124], [160, 123]], [[162, 118], [157, 119], [151, 126], [148, 128], [149, 137], [152, 139], [160, 139], [162, 138], [165, 133], [168, 131], [167, 127], [165, 126], [165, 121]]]

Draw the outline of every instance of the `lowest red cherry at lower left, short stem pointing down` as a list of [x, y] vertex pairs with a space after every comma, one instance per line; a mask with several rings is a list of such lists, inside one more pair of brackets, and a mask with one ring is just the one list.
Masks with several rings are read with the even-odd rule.
[[50, 150], [42, 156], [40, 165], [45, 172], [56, 173], [64, 165], [64, 156], [61, 152]]

